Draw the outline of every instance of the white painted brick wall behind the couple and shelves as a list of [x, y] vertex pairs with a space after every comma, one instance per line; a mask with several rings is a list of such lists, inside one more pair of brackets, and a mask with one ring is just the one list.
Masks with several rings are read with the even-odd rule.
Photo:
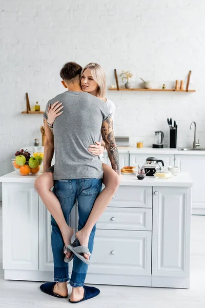
[[[191, 145], [191, 121], [205, 146], [203, 0], [0, 0], [0, 175], [12, 170], [10, 158], [23, 144], [40, 138], [42, 115], [27, 115], [30, 103], [42, 109], [61, 87], [59, 70], [67, 61], [99, 62], [114, 82], [113, 69], [131, 70], [133, 85], [162, 84], [186, 78], [192, 70], [196, 93], [111, 92], [116, 105], [116, 135], [152, 144], [155, 130], [165, 133], [167, 118], [177, 121], [178, 145]], [[169, 84], [170, 85], [170, 84]]]

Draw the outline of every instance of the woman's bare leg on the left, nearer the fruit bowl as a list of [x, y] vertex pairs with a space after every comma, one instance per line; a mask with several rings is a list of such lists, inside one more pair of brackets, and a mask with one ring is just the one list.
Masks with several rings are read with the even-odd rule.
[[[34, 187], [44, 202], [45, 206], [48, 208], [50, 214], [55, 219], [61, 231], [65, 245], [70, 244], [74, 230], [68, 226], [60, 203], [53, 192], [50, 190], [53, 187], [53, 172], [44, 172], [39, 178], [35, 180]], [[69, 258], [70, 254], [66, 254], [66, 256]]]

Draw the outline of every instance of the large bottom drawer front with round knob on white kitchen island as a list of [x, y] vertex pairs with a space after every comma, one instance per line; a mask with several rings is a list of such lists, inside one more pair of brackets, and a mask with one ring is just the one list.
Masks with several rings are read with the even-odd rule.
[[88, 273], [151, 275], [149, 231], [96, 230]]

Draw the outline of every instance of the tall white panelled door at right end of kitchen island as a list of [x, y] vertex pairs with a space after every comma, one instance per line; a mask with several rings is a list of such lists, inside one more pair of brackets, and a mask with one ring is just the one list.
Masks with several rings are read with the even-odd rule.
[[153, 191], [152, 276], [188, 278], [191, 188], [153, 187]]

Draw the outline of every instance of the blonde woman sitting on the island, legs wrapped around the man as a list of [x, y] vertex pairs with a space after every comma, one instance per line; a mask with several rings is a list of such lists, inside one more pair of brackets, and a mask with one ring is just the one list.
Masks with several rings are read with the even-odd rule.
[[[81, 71], [80, 76], [81, 89], [85, 92], [89, 92], [92, 95], [95, 95], [99, 99], [103, 100], [105, 104], [108, 105], [110, 109], [110, 113], [112, 113], [112, 117], [115, 112], [115, 106], [112, 101], [105, 99], [106, 94], [106, 75], [101, 68], [101, 66], [97, 63], [89, 63], [86, 65]], [[62, 84], [66, 88], [66, 84], [62, 81]], [[60, 111], [63, 107], [61, 103], [54, 103], [52, 107], [48, 110], [48, 125], [52, 130], [52, 125], [55, 121], [55, 118], [58, 117], [62, 111]], [[101, 133], [99, 136], [99, 140], [96, 141], [95, 145], [90, 145], [88, 151], [90, 151], [94, 156], [99, 156], [103, 161], [103, 152], [105, 150], [105, 143], [102, 141]], [[105, 184], [105, 188], [100, 192], [99, 196], [95, 200], [90, 216], [86, 222], [86, 225], [83, 229], [79, 230], [76, 233], [76, 238], [78, 239], [81, 246], [88, 246], [90, 233], [92, 231], [93, 226], [103, 214], [104, 210], [112, 200], [112, 197], [117, 190], [120, 182], [120, 176], [107, 164], [102, 164], [104, 170], [103, 183]], [[61, 210], [60, 203], [53, 192], [50, 190], [53, 187], [53, 169], [54, 166], [46, 170], [42, 176], [40, 176], [35, 181], [35, 188], [50, 211], [51, 215], [55, 219], [58, 227], [61, 231], [64, 244], [67, 246], [71, 243], [71, 237], [73, 236], [74, 230], [68, 226], [63, 211]], [[71, 252], [66, 249], [65, 250], [66, 258], [65, 261], [69, 261], [71, 257]], [[84, 254], [85, 259], [89, 260], [89, 255]]]

